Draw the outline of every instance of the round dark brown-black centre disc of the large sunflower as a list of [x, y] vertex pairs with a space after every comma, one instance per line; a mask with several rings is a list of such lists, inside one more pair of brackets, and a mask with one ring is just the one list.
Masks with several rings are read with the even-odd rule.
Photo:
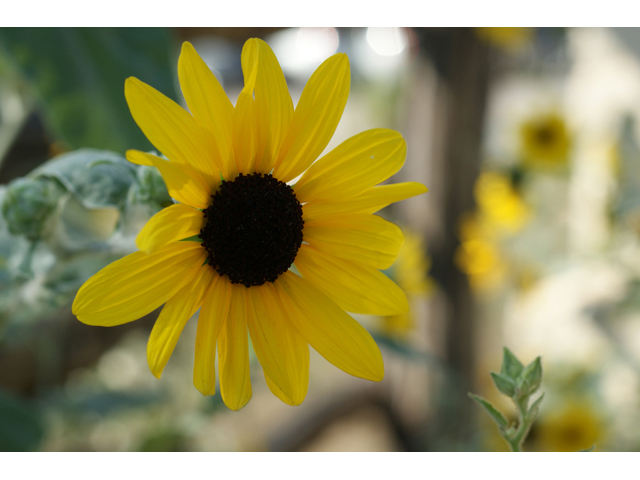
[[246, 287], [274, 282], [302, 244], [302, 206], [270, 174], [238, 175], [211, 195], [200, 231], [209, 265]]

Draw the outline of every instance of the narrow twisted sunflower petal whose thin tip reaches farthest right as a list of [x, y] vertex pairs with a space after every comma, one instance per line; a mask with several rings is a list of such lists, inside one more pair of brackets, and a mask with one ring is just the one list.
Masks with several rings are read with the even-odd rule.
[[394, 202], [427, 192], [427, 187], [417, 182], [394, 183], [373, 187], [348, 200], [319, 200], [305, 203], [302, 212], [305, 222], [325, 215], [345, 213], [375, 213]]

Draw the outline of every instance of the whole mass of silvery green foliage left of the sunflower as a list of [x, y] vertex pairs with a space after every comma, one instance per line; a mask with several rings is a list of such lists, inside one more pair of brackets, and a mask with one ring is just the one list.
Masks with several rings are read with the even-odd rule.
[[0, 187], [0, 327], [69, 302], [170, 203], [155, 168], [106, 150], [62, 154]]

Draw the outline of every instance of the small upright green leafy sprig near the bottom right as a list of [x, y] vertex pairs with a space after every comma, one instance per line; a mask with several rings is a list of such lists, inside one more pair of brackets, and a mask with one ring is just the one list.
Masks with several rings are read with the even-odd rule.
[[526, 367], [511, 353], [508, 348], [504, 348], [502, 357], [502, 367], [500, 373], [490, 372], [491, 378], [496, 388], [507, 397], [511, 398], [518, 409], [518, 420], [514, 424], [509, 424], [505, 416], [489, 401], [482, 397], [469, 393], [478, 405], [489, 414], [498, 426], [498, 431], [502, 438], [509, 444], [514, 452], [522, 450], [522, 444], [531, 429], [531, 425], [538, 416], [543, 395], [540, 395], [529, 407], [531, 395], [535, 393], [542, 383], [542, 363], [540, 357], [531, 362]]

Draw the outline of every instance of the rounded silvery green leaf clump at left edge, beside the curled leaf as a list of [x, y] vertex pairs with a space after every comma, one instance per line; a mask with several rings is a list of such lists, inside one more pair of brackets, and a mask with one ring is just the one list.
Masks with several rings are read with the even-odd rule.
[[23, 235], [31, 241], [38, 240], [63, 194], [63, 188], [54, 180], [13, 180], [8, 185], [2, 202], [2, 214], [9, 232]]

